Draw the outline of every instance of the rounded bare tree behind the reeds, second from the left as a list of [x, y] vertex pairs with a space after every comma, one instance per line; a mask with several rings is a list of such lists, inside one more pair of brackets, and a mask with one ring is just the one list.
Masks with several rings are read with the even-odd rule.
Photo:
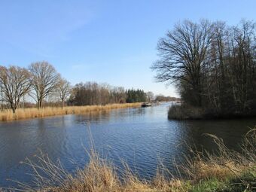
[[56, 88], [59, 82], [59, 74], [48, 62], [33, 62], [29, 66], [32, 74], [32, 88], [35, 91], [35, 99], [38, 108], [42, 107], [43, 99]]

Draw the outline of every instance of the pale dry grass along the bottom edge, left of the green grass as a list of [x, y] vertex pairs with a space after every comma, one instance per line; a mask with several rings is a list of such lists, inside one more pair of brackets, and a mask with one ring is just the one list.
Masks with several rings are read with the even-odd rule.
[[15, 191], [54, 191], [54, 192], [158, 192], [186, 191], [182, 181], [169, 181], [157, 175], [154, 181], [140, 180], [129, 168], [124, 171], [123, 179], [117, 176], [116, 167], [90, 152], [90, 162], [84, 169], [78, 169], [75, 175], [69, 174], [62, 164], [53, 163], [45, 154], [36, 156], [38, 163], [26, 160], [25, 164], [34, 170], [32, 184], [19, 183]]

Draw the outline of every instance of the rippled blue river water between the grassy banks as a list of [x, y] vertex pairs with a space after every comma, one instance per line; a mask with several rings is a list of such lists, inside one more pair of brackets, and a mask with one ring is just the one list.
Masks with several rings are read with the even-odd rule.
[[43, 119], [0, 123], [0, 186], [14, 185], [11, 180], [30, 182], [28, 166], [20, 163], [26, 157], [33, 160], [43, 151], [52, 160], [60, 160], [70, 172], [88, 161], [84, 148], [89, 148], [90, 124], [95, 147], [100, 153], [122, 166], [126, 161], [140, 176], [155, 174], [161, 160], [172, 170], [173, 160], [181, 160], [187, 148], [184, 142], [215, 148], [209, 137], [212, 133], [225, 144], [238, 148], [248, 127], [256, 119], [190, 120], [167, 119], [169, 104], [151, 108], [126, 108], [98, 114], [66, 115]]

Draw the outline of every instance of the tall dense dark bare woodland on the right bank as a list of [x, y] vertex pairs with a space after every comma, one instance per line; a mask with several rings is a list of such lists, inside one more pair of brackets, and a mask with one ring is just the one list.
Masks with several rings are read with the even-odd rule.
[[184, 105], [212, 114], [256, 114], [255, 23], [185, 20], [160, 38], [157, 81], [175, 84]]

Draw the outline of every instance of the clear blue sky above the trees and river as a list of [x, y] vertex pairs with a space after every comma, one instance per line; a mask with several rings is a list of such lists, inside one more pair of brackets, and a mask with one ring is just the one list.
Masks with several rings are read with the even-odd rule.
[[154, 82], [157, 41], [184, 19], [256, 19], [255, 0], [2, 0], [0, 65], [47, 60], [72, 84], [97, 81], [177, 96]]

